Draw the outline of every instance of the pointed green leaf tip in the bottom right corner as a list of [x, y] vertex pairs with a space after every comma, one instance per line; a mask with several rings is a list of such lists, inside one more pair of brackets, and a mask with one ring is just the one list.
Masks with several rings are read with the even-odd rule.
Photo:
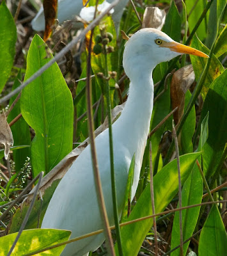
[[226, 252], [226, 230], [217, 205], [212, 205], [200, 234], [199, 256], [224, 256]]

